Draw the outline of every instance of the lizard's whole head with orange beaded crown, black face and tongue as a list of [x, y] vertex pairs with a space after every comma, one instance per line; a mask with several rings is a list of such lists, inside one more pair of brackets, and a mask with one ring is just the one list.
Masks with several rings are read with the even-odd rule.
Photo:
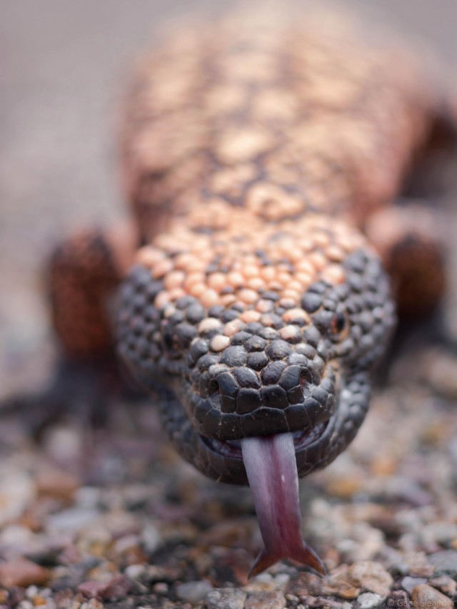
[[[319, 215], [233, 236], [170, 232], [138, 262], [119, 308], [121, 354], [143, 382], [165, 386], [161, 416], [184, 458], [250, 483], [266, 531], [265, 488], [326, 466], [366, 414], [395, 317], [381, 262], [358, 232]], [[297, 497], [284, 496], [278, 517], [284, 502], [296, 513]], [[300, 556], [278, 543], [254, 573]]]

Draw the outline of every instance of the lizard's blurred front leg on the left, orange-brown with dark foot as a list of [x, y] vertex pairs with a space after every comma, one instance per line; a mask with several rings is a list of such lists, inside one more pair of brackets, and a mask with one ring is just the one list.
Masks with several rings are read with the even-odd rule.
[[39, 436], [61, 416], [104, 421], [106, 406], [126, 387], [114, 353], [111, 308], [116, 288], [131, 265], [136, 230], [74, 233], [51, 254], [47, 272], [51, 320], [59, 344], [56, 371], [41, 394], [6, 399], [1, 413], [21, 420]]

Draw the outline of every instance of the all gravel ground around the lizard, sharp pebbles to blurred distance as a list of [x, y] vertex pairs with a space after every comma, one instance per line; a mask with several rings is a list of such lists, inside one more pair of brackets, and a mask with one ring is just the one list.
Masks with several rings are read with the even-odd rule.
[[[6, 395], [49, 377], [56, 354], [40, 261], [75, 224], [121, 215], [116, 108], [134, 57], [181, 2], [1, 0], [0, 8]], [[453, 0], [383, 8], [444, 64], [457, 61]], [[147, 401], [132, 408], [116, 398], [104, 429], [63, 419], [38, 445], [24, 421], [2, 417], [0, 608], [451, 607], [456, 373], [442, 347], [406, 345], [351, 449], [301, 483], [305, 536], [326, 578], [280, 563], [247, 582], [261, 546], [250, 492], [184, 464]]]

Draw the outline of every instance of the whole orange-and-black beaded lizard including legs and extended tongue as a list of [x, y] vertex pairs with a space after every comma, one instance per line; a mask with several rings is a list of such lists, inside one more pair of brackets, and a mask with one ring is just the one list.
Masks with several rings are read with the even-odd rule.
[[423, 314], [443, 292], [433, 215], [396, 203], [444, 104], [414, 56], [356, 42], [341, 15], [263, 17], [183, 29], [139, 68], [121, 130], [132, 219], [54, 252], [63, 365], [26, 405], [41, 429], [62, 403], [102, 420], [117, 342], [179, 453], [251, 486], [250, 576], [285, 558], [325, 573], [298, 477], [356, 435], [394, 300]]

